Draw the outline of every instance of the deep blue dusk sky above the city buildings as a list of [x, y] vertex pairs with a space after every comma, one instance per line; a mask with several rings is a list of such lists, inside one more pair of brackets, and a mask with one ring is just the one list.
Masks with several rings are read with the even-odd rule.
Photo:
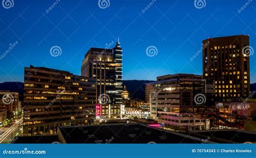
[[[206, 0], [197, 9], [193, 0], [157, 0], [146, 11], [146, 0], [110, 0], [100, 9], [98, 0], [18, 1], [4, 9], [0, 5], [0, 52], [18, 42], [0, 60], [0, 83], [23, 81], [24, 66], [44, 66], [80, 74], [84, 54], [90, 47], [105, 47], [120, 38], [123, 47], [123, 79], [156, 80], [172, 73], [202, 74], [200, 50], [208, 37], [250, 35], [256, 49], [256, 2], [241, 13], [247, 0]], [[67, 15], [69, 14], [69, 16]], [[56, 27], [57, 26], [57, 27]], [[61, 56], [52, 57], [58, 45]], [[149, 57], [148, 46], [156, 46], [157, 56]], [[256, 82], [256, 53], [251, 56], [251, 83]]]

